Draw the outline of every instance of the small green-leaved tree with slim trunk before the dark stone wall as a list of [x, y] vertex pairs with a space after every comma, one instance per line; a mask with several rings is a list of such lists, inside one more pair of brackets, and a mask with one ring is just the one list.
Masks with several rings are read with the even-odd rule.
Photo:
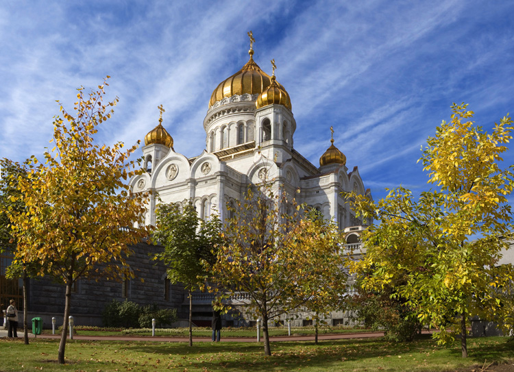
[[156, 210], [154, 238], [164, 247], [156, 255], [167, 266], [171, 283], [184, 284], [189, 299], [189, 346], [193, 346], [193, 291], [204, 286], [203, 262], [213, 263], [220, 241], [221, 223], [215, 215], [209, 221], [199, 219], [192, 201], [184, 208], [178, 203], [160, 203]]

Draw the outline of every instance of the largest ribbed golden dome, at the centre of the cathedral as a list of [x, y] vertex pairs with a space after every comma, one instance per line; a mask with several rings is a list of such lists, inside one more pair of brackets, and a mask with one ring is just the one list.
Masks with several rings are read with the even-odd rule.
[[[252, 55], [253, 49], [249, 50], [250, 59], [243, 66], [243, 69], [234, 73], [228, 79], [219, 83], [216, 89], [212, 92], [209, 101], [209, 107], [214, 105], [217, 101], [221, 101], [225, 97], [232, 97], [233, 95], [260, 95], [271, 84], [271, 76], [262, 71], [260, 67], [254, 62]], [[276, 83], [280, 88], [284, 87]], [[284, 89], [285, 91], [285, 89]]]

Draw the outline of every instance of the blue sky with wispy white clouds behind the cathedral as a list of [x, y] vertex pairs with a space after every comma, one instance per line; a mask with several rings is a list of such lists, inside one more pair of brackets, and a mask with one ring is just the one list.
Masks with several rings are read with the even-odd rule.
[[[175, 151], [206, 147], [212, 90], [254, 60], [291, 96], [294, 147], [334, 145], [374, 199], [430, 187], [421, 147], [469, 103], [490, 130], [514, 112], [514, 1], [23, 1], [0, 3], [0, 158], [42, 159], [59, 100], [110, 75], [97, 140], [133, 145], [158, 124]], [[137, 156], [142, 156], [138, 150]], [[514, 153], [504, 164], [514, 163]], [[514, 205], [514, 199], [509, 199]]]

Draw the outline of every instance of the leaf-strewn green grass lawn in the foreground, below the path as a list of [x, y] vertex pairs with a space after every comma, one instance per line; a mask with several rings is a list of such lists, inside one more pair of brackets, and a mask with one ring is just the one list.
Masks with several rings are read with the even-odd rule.
[[[271, 343], [263, 356], [257, 343], [165, 343], [83, 341], [66, 344], [66, 364], [56, 363], [58, 340], [0, 340], [0, 371], [471, 371], [473, 366], [514, 360], [506, 337], [469, 338], [469, 358], [459, 345], [439, 347], [423, 337], [413, 343], [353, 339]], [[476, 367], [475, 367], [476, 368]]]

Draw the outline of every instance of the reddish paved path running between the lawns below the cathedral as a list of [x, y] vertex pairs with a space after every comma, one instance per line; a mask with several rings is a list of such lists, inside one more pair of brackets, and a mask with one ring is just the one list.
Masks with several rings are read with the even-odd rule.
[[[425, 333], [431, 333], [424, 331]], [[23, 337], [23, 331], [18, 332], [19, 337]], [[318, 340], [340, 340], [344, 338], [372, 338], [384, 336], [382, 332], [358, 332], [358, 333], [344, 333], [344, 334], [320, 334]], [[7, 337], [7, 331], [0, 329], [0, 337]], [[32, 333], [29, 333], [30, 338], [34, 338]], [[38, 338], [60, 338], [60, 335], [55, 334], [42, 334]], [[151, 337], [151, 336], [73, 336], [74, 340], [111, 340], [111, 341], [158, 341], [158, 342], [171, 342], [171, 343], [186, 343], [189, 341], [187, 337]], [[272, 336], [269, 338], [271, 342], [276, 341], [313, 341], [315, 336]], [[256, 343], [256, 337], [225, 337], [223, 338], [223, 330], [221, 330], [221, 340], [224, 342], [237, 342], [237, 343]], [[260, 338], [261, 342], [263, 338]], [[212, 342], [208, 337], [193, 337], [194, 343], [210, 343]]]

